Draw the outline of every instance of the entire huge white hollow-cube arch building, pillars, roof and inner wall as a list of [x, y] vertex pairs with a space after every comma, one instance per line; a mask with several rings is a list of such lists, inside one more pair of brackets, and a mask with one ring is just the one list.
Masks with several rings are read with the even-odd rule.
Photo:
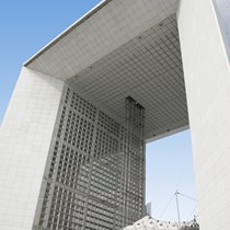
[[[25, 62], [0, 133], [0, 229], [118, 229], [140, 219], [141, 141], [188, 126], [200, 229], [230, 229], [220, 3], [229, 7], [105, 0]], [[125, 106], [129, 96], [137, 103]]]

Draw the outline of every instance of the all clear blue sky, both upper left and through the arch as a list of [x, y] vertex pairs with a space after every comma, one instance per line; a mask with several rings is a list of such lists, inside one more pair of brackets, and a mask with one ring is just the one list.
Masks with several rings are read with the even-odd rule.
[[[0, 123], [23, 62], [99, 2], [1, 0]], [[147, 202], [154, 218], [177, 219], [175, 198], [169, 204], [176, 188], [195, 197], [189, 131], [147, 145]], [[181, 219], [187, 220], [194, 207], [194, 200], [180, 196]]]

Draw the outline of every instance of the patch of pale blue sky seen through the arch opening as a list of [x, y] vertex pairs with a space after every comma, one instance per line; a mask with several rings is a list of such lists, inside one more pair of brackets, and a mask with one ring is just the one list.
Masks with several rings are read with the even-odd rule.
[[[196, 198], [189, 130], [147, 145], [147, 203], [154, 218], [177, 219], [175, 197], [170, 203], [176, 189]], [[181, 219], [191, 219], [196, 202], [179, 196], [179, 203]]]

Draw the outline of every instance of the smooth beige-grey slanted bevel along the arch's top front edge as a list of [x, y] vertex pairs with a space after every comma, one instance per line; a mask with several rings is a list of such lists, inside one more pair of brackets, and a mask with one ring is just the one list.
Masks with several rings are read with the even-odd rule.
[[177, 0], [106, 0], [25, 66], [67, 80], [176, 11]]

